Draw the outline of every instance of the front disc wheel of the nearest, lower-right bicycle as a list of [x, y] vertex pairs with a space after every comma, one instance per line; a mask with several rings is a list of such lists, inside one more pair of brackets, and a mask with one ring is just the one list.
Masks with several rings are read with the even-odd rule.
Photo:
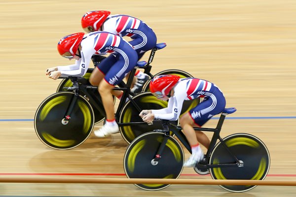
[[[148, 132], [138, 136], [124, 154], [124, 171], [128, 178], [178, 178], [183, 170], [184, 152], [171, 135], [158, 164], [152, 165], [157, 150], [164, 139], [162, 132]], [[169, 184], [135, 184], [144, 190], [161, 190]]]

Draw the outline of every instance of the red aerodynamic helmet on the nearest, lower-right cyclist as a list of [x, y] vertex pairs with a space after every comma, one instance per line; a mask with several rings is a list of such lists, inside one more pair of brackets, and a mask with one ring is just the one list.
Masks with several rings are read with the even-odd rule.
[[154, 77], [150, 84], [150, 92], [155, 97], [161, 99], [167, 96], [172, 88], [178, 83], [180, 76], [177, 75], [159, 75]]

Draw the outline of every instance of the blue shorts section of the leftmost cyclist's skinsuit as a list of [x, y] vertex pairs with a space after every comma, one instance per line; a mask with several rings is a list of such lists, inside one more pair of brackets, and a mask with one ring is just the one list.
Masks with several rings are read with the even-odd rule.
[[97, 66], [105, 74], [104, 79], [113, 86], [122, 81], [138, 61], [137, 52], [128, 43], [121, 42], [117, 50], [114, 55], [110, 54]]

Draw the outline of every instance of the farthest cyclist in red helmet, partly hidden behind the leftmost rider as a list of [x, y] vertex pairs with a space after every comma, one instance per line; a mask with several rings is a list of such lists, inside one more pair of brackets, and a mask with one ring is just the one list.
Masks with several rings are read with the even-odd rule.
[[[156, 35], [151, 28], [143, 21], [131, 16], [110, 15], [110, 11], [91, 11], [83, 15], [81, 26], [88, 33], [105, 31], [121, 37], [130, 37], [132, 40], [129, 43], [137, 51], [138, 60], [142, 58], [146, 51], [151, 50], [156, 45]], [[93, 56], [93, 59], [95, 60], [96, 57], [99, 58], [99, 56]], [[98, 65], [98, 67], [102, 69], [102, 66]], [[131, 92], [138, 94], [142, 91], [143, 85], [149, 80], [149, 76], [139, 69], [137, 69], [135, 76], [136, 79], [133, 82], [134, 86]]]

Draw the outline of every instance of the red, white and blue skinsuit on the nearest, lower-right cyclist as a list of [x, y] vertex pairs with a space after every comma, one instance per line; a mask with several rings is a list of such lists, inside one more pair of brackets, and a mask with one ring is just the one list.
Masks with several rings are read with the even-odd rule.
[[211, 117], [225, 108], [225, 98], [220, 89], [213, 83], [197, 78], [183, 78], [174, 86], [174, 96], [169, 99], [168, 107], [152, 110], [154, 118], [178, 120], [184, 100], [203, 98], [203, 101], [188, 113], [194, 123], [201, 127]]

